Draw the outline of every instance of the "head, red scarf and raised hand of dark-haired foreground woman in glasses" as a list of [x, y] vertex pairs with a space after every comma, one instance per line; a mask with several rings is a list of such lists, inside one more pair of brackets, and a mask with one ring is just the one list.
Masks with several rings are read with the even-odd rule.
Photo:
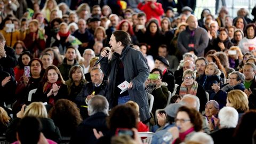
[[187, 142], [196, 132], [202, 131], [202, 116], [196, 109], [180, 107], [174, 121], [176, 126], [168, 130], [173, 137], [172, 143]]

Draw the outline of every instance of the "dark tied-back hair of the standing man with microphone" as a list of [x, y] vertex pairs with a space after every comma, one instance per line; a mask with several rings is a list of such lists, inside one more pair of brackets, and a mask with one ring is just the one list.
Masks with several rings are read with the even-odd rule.
[[116, 30], [113, 35], [116, 38], [116, 42], [121, 42], [124, 47], [130, 46], [132, 43], [131, 36], [123, 30]]

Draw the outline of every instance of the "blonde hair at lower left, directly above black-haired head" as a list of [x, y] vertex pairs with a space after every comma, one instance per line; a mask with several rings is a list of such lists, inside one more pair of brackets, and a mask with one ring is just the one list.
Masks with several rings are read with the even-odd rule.
[[25, 110], [24, 116], [34, 116], [37, 118], [47, 118], [47, 110], [43, 102], [32, 102]]

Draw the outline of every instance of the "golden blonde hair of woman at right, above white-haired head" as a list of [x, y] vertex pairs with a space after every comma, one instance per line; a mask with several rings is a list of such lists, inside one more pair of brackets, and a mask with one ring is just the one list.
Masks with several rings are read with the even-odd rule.
[[249, 110], [248, 97], [241, 90], [231, 90], [228, 92], [227, 100], [231, 104], [231, 107], [235, 108], [236, 110]]

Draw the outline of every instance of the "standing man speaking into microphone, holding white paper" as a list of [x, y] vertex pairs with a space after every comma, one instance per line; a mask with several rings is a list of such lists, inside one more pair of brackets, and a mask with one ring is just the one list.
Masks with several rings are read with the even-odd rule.
[[[140, 106], [141, 121], [150, 118], [148, 109], [148, 98], [145, 90], [145, 81], [149, 76], [146, 60], [140, 51], [131, 46], [131, 37], [122, 30], [116, 30], [110, 37], [109, 45], [113, 55], [108, 61], [109, 52], [102, 51], [100, 61], [103, 73], [109, 76], [109, 91], [107, 99], [110, 108], [125, 103], [129, 100], [135, 101]], [[118, 85], [128, 82], [127, 91], [122, 91]]]

